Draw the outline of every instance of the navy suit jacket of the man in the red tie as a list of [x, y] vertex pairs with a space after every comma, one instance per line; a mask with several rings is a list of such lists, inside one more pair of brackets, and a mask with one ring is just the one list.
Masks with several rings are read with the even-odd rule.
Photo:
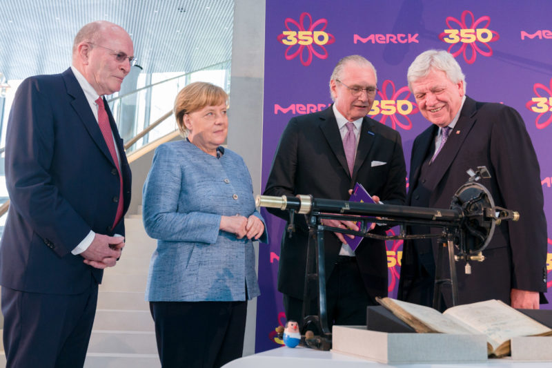
[[[130, 169], [106, 104], [121, 157], [124, 211], [130, 203]], [[119, 175], [72, 70], [23, 81], [6, 135], [8, 220], [0, 243], [0, 284], [37, 293], [81, 293], [101, 270], [72, 249], [90, 230], [115, 229]]]

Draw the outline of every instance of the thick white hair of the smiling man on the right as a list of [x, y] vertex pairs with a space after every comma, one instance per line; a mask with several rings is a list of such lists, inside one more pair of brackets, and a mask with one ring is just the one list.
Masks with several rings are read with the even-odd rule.
[[412, 83], [417, 79], [426, 77], [431, 70], [443, 71], [454, 84], [462, 81], [464, 93], [466, 93], [466, 76], [453, 55], [445, 50], [427, 50], [414, 59], [406, 73], [408, 88], [412, 90]]

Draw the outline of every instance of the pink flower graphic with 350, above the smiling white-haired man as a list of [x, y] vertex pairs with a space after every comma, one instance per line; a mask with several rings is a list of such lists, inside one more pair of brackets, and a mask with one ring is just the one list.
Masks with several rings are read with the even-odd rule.
[[[468, 16], [471, 18], [471, 23], [466, 22], [467, 20], [466, 18]], [[464, 10], [460, 18], [462, 19], [462, 21], [459, 21], [455, 17], [446, 17], [446, 26], [449, 27], [450, 30], [457, 29], [455, 28], [455, 24], [457, 25], [458, 28], [460, 28], [460, 30], [477, 30], [477, 28], [489, 28], [489, 24], [491, 23], [491, 17], [487, 15], [475, 20], [475, 17], [473, 16], [473, 12], [469, 10]], [[483, 25], [482, 23], [484, 22], [486, 22], [486, 24]], [[451, 46], [449, 46], [448, 51], [453, 55], [453, 57], [457, 57], [458, 55], [463, 54], [464, 60], [466, 60], [466, 63], [468, 64], [473, 64], [475, 62], [475, 57], [477, 57], [477, 52], [479, 52], [481, 55], [485, 57], [493, 56], [493, 49], [491, 48], [491, 46], [489, 46], [488, 42], [497, 41], [500, 38], [500, 36], [494, 30], [489, 30], [489, 32], [491, 32], [491, 34], [493, 35], [493, 37], [489, 41], [483, 42], [477, 38], [475, 41], [469, 42], [469, 43], [458, 41], [456, 43], [451, 43]], [[462, 37], [462, 32], [460, 32], [460, 37]], [[439, 39], [441, 41], [444, 41], [445, 38], [450, 39], [450, 35], [445, 32], [442, 32], [439, 35]], [[485, 50], [483, 50], [483, 48]], [[453, 49], [456, 49], [456, 50], [453, 50]], [[471, 51], [471, 56], [468, 56], [469, 51], [466, 51], [466, 50]]]

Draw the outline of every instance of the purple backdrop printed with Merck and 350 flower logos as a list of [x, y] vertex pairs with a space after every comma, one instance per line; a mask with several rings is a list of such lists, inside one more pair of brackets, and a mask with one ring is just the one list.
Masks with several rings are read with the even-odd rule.
[[[333, 67], [353, 54], [363, 55], [377, 70], [381, 91], [370, 115], [400, 132], [408, 168], [413, 140], [430, 123], [418, 113], [408, 91], [406, 70], [421, 52], [439, 48], [455, 55], [470, 97], [513, 106], [524, 118], [540, 161], [551, 233], [550, 14], [549, 0], [266, 0], [262, 187], [288, 120], [331, 104], [328, 81]], [[282, 295], [276, 289], [284, 224], [264, 210], [263, 215], [270, 244], [259, 247], [257, 352], [278, 346], [274, 329], [285, 322]], [[548, 242], [550, 272], [552, 240]], [[402, 242], [388, 242], [387, 249], [389, 292], [395, 296]], [[547, 298], [552, 300], [551, 293]]]

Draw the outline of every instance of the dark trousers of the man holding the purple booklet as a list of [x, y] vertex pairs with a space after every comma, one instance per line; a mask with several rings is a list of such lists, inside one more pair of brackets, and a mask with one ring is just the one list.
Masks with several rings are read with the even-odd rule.
[[[313, 300], [314, 302], [317, 303], [317, 299]], [[375, 301], [366, 293], [356, 258], [338, 256], [326, 282], [328, 327], [331, 329], [333, 325], [365, 326], [366, 307], [373, 304]], [[302, 324], [302, 308], [303, 300], [284, 294], [287, 320], [295, 320]]]

